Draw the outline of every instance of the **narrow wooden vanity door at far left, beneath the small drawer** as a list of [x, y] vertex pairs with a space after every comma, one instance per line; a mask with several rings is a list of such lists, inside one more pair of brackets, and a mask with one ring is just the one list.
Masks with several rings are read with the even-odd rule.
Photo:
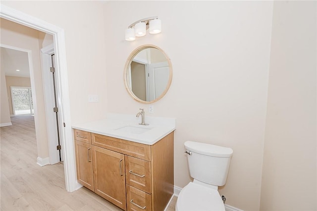
[[75, 140], [77, 180], [94, 191], [94, 174], [91, 144]]

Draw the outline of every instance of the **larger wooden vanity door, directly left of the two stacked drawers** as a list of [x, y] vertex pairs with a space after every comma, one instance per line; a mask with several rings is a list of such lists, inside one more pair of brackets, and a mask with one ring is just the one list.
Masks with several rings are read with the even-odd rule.
[[124, 155], [92, 146], [95, 193], [126, 210]]

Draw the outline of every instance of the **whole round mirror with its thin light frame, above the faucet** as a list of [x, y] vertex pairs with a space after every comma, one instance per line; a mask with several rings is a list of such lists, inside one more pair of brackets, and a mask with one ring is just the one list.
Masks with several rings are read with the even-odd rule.
[[153, 45], [134, 50], [124, 68], [124, 85], [136, 101], [151, 104], [162, 97], [172, 82], [172, 65], [168, 56]]

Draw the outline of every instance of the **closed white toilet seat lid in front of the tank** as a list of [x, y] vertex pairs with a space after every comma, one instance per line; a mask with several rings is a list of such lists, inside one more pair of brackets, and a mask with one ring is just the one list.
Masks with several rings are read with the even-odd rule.
[[176, 211], [225, 211], [217, 190], [193, 182], [179, 193]]

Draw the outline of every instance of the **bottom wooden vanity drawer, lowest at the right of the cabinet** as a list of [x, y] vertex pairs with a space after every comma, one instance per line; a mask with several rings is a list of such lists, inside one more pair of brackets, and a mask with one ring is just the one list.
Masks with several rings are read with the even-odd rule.
[[127, 211], [152, 211], [152, 197], [139, 189], [126, 185]]

